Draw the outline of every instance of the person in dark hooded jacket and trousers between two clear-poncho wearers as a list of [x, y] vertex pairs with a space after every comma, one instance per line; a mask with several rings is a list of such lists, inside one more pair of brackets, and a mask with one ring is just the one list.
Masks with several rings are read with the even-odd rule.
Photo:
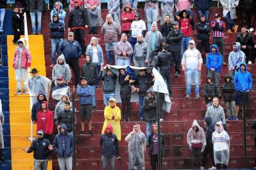
[[216, 169], [216, 166], [214, 164], [213, 159], [213, 145], [212, 145], [212, 133], [214, 130], [214, 124], [212, 123], [212, 119], [210, 116], [207, 116], [204, 118], [204, 128], [205, 128], [205, 134], [206, 134], [206, 148], [204, 149], [204, 152], [202, 152], [202, 165], [201, 169], [204, 169], [207, 162], [207, 154], [209, 153], [211, 161], [212, 161], [212, 167], [209, 169]]

